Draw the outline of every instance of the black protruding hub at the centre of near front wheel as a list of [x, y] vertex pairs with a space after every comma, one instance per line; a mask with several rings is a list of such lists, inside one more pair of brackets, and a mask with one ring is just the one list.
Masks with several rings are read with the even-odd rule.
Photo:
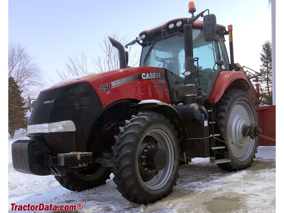
[[149, 148], [145, 152], [145, 167], [151, 170], [162, 170], [167, 163], [167, 155], [163, 149]]

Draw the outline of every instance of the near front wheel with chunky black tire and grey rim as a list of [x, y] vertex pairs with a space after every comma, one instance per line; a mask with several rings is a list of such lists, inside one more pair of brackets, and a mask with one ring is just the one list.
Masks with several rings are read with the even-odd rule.
[[168, 118], [155, 112], [139, 113], [126, 120], [115, 139], [113, 180], [125, 199], [148, 204], [172, 192], [178, 175], [179, 141]]

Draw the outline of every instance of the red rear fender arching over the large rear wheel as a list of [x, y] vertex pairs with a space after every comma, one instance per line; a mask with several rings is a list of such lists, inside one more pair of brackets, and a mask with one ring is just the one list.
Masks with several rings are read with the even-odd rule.
[[249, 82], [243, 72], [237, 71], [221, 71], [215, 81], [209, 103], [217, 103], [224, 92], [230, 89], [249, 90]]

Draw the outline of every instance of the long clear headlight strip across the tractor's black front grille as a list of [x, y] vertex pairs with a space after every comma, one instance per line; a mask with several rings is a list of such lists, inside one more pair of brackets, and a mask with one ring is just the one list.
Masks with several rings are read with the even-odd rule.
[[27, 127], [30, 133], [49, 133], [49, 132], [74, 132], [76, 131], [73, 121], [59, 121], [49, 124], [33, 124]]

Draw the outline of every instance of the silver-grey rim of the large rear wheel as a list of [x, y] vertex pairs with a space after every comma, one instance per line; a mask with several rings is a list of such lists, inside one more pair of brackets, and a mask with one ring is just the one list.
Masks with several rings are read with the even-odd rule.
[[233, 107], [229, 117], [227, 132], [232, 154], [239, 161], [248, 159], [254, 147], [255, 140], [247, 135], [244, 141], [242, 133], [243, 126], [250, 125], [253, 122], [255, 122], [254, 114], [248, 104], [239, 102]]

